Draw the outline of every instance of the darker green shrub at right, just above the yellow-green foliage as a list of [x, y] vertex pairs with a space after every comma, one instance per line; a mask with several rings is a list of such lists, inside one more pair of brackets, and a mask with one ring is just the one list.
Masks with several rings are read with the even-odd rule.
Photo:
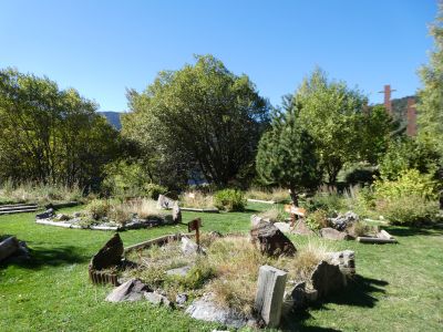
[[390, 146], [380, 160], [380, 175], [384, 179], [394, 180], [402, 172], [414, 168], [422, 174], [434, 175], [440, 155], [427, 142], [410, 137], [399, 137]]

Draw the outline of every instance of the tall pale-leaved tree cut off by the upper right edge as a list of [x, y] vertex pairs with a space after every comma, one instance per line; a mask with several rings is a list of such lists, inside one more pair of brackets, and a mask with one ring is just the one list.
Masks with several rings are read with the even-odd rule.
[[420, 71], [423, 89], [419, 91], [418, 103], [419, 139], [430, 142], [443, 156], [443, 3], [431, 27], [434, 50], [430, 63]]

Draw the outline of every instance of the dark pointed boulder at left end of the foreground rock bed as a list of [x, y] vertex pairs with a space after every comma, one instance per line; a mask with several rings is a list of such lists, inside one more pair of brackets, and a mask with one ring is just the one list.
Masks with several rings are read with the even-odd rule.
[[91, 260], [90, 269], [102, 270], [119, 266], [123, 259], [123, 241], [115, 234]]

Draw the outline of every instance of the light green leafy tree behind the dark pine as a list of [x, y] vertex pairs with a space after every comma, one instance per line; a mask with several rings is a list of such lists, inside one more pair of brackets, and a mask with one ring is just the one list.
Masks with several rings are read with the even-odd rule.
[[286, 107], [297, 108], [298, 103], [302, 104], [297, 110], [299, 122], [316, 143], [330, 185], [346, 163], [372, 162], [384, 149], [391, 122], [385, 112], [379, 107], [364, 112], [367, 97], [343, 82], [329, 81], [320, 69], [287, 97]]

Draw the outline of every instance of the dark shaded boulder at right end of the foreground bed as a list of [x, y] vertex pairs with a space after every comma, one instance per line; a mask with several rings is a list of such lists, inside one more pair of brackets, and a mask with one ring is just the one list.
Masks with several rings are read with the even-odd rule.
[[322, 260], [316, 267], [310, 279], [319, 298], [324, 298], [347, 286], [347, 278], [341, 273], [340, 268], [327, 262], [326, 260]]

